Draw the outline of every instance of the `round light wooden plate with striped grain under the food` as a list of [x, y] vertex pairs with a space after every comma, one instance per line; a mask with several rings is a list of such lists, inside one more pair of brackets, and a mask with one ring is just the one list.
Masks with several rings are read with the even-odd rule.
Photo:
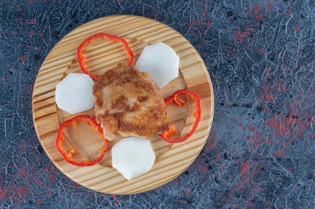
[[[195, 133], [186, 141], [169, 144], [161, 137], [152, 137], [151, 143], [156, 159], [147, 173], [126, 180], [111, 166], [111, 147], [121, 139], [109, 142], [104, 158], [94, 166], [78, 167], [64, 160], [56, 148], [56, 135], [60, 124], [74, 117], [57, 108], [55, 88], [71, 72], [82, 73], [76, 59], [77, 47], [96, 33], [107, 33], [124, 38], [134, 52], [133, 64], [137, 61], [143, 47], [163, 42], [172, 47], [180, 57], [180, 75], [163, 89], [165, 97], [179, 89], [189, 89], [199, 95], [201, 101], [201, 120]], [[84, 51], [86, 67], [94, 74], [102, 75], [128, 56], [119, 42], [109, 43], [97, 39]], [[184, 98], [185, 99], [185, 98]], [[207, 68], [195, 48], [172, 28], [139, 16], [118, 15], [100, 18], [86, 23], [63, 37], [44, 60], [33, 90], [32, 112], [38, 139], [54, 165], [73, 181], [109, 194], [134, 194], [162, 186], [180, 175], [198, 156], [209, 135], [214, 111], [213, 87]], [[184, 107], [168, 107], [169, 122], [175, 124], [180, 134], [189, 132], [195, 112], [194, 101], [187, 99]], [[95, 116], [94, 108], [80, 113]], [[78, 115], [78, 114], [76, 114]], [[66, 140], [82, 156], [93, 159], [98, 155], [100, 137], [88, 126], [82, 125], [68, 130]], [[101, 144], [102, 145], [102, 144]], [[66, 145], [65, 145], [66, 146]]]

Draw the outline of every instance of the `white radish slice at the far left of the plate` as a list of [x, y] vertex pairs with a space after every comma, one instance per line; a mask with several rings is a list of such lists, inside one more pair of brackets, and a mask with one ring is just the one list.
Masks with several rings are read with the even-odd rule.
[[94, 105], [94, 81], [84, 73], [69, 73], [56, 85], [57, 107], [71, 114], [89, 110]]

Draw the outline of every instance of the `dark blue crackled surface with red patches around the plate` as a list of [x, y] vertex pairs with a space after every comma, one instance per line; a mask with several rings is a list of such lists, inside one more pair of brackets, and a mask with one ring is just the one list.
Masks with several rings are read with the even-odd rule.
[[[31, 100], [52, 47], [96, 18], [132, 14], [182, 34], [212, 79], [215, 114], [195, 162], [134, 195], [87, 189], [50, 162]], [[315, 1], [0, 2], [2, 208], [314, 208]]]

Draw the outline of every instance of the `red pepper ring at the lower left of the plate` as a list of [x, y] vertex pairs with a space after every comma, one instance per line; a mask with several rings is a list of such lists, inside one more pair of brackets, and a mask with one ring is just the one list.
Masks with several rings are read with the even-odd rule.
[[[69, 125], [71, 125], [71, 126], [73, 126], [73, 128], [75, 128], [77, 121], [81, 121], [81, 122], [88, 124], [91, 127], [91, 129], [94, 129], [96, 133], [100, 134], [100, 136], [102, 137], [102, 139], [104, 141], [103, 147], [99, 150], [100, 156], [97, 157], [96, 159], [94, 159], [93, 161], [84, 160], [82, 162], [78, 162], [78, 161], [72, 160], [72, 154], [75, 153], [74, 148], [72, 148], [69, 152], [65, 152], [61, 148], [61, 142], [64, 139], [63, 129]], [[104, 137], [102, 127], [95, 121], [95, 119], [92, 116], [90, 116], [90, 115], [77, 115], [77, 116], [61, 123], [59, 130], [58, 130], [58, 134], [57, 134], [56, 146], [57, 146], [58, 151], [62, 154], [62, 156], [64, 157], [64, 159], [67, 162], [69, 162], [73, 165], [77, 165], [77, 166], [88, 166], [88, 165], [95, 165], [104, 157], [107, 146], [108, 146], [108, 140]]]

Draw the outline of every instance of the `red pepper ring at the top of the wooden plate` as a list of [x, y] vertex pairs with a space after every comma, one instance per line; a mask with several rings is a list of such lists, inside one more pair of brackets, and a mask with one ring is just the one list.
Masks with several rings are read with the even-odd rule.
[[88, 43], [94, 42], [95, 39], [102, 38], [102, 37], [104, 39], [108, 39], [110, 42], [119, 41], [119, 42], [121, 42], [124, 45], [124, 47], [126, 49], [126, 52], [127, 52], [127, 55], [129, 56], [127, 65], [131, 65], [132, 64], [132, 60], [133, 60], [133, 52], [130, 49], [128, 43], [124, 39], [122, 39], [122, 38], [120, 38], [118, 36], [108, 35], [108, 34], [104, 34], [104, 33], [99, 33], [99, 34], [95, 34], [95, 35], [91, 36], [90, 38], [88, 38], [85, 41], [83, 41], [82, 44], [77, 48], [77, 50], [76, 50], [76, 57], [77, 57], [77, 60], [78, 60], [78, 63], [79, 63], [79, 66], [80, 66], [81, 70], [84, 73], [88, 74], [94, 81], [98, 80], [101, 76], [93, 75], [86, 69], [86, 67], [84, 66], [84, 62], [86, 62], [87, 59], [86, 59], [86, 57], [83, 56], [82, 49]]

